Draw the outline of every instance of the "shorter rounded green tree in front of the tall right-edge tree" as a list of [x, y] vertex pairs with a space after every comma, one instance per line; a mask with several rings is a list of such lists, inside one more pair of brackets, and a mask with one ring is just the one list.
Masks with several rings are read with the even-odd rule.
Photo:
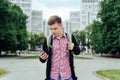
[[95, 53], [102, 53], [104, 47], [101, 22], [95, 21], [91, 26], [92, 32], [90, 34], [90, 44], [92, 50], [94, 50]]

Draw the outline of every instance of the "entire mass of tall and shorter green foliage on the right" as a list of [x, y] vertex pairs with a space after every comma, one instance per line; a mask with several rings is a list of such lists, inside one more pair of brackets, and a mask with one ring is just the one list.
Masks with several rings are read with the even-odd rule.
[[92, 49], [96, 53], [120, 52], [120, 1], [103, 0], [90, 35]]

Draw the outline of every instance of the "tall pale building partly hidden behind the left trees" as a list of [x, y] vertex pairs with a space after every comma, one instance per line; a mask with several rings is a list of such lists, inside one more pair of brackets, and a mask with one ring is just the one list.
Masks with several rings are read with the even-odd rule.
[[31, 9], [32, 9], [31, 0], [10, 0], [10, 1], [20, 6], [23, 12], [28, 16], [26, 26], [27, 26], [27, 31], [31, 32]]

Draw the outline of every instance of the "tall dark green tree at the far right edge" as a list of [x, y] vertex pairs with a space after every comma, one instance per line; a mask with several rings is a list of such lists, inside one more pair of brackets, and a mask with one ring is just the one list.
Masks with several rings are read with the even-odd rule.
[[[120, 52], [120, 1], [104, 0], [101, 2], [99, 16], [103, 22], [104, 45], [107, 52]], [[105, 36], [106, 35], [106, 36]]]

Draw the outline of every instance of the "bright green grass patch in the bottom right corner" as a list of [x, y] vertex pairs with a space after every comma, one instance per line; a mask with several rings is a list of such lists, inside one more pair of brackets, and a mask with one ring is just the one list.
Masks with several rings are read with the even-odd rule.
[[120, 70], [100, 70], [97, 71], [97, 74], [110, 80], [120, 80]]

